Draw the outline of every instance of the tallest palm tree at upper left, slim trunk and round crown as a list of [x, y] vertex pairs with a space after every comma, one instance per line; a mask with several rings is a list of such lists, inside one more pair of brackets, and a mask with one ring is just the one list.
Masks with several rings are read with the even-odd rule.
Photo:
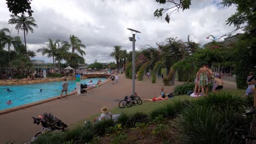
[[24, 31], [24, 41], [25, 41], [25, 47], [27, 52], [27, 44], [26, 44], [26, 35], [25, 32], [28, 33], [28, 31], [34, 32], [34, 29], [32, 27], [37, 27], [36, 20], [34, 20], [31, 16], [26, 16], [22, 14], [21, 16], [18, 15], [11, 15], [11, 19], [9, 20], [9, 24], [16, 25], [15, 29], [18, 30], [18, 34], [20, 29]]

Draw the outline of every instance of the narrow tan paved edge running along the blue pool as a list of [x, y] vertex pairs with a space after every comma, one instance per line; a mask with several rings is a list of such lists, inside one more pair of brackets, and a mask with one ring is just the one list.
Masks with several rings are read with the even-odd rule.
[[[109, 81], [111, 81], [111, 80], [110, 80], [110, 79], [107, 79], [107, 80], [103, 81], [103, 82], [102, 82], [100, 85], [98, 85], [98, 86], [102, 86], [102, 85], [108, 83]], [[90, 89], [93, 89], [93, 88], [96, 88], [96, 87], [89, 87], [89, 88], [86, 88], [86, 91], [88, 91], [88, 90], [90, 90]], [[74, 95], [74, 94], [77, 94], [77, 92], [68, 93], [66, 97], [69, 97], [69, 96]], [[60, 95], [58, 95], [58, 96], [56, 96], [56, 97], [53, 97], [53, 98], [48, 98], [48, 99], [44, 99], [44, 100], [39, 100], [39, 101], [36, 101], [36, 102], [34, 102], [34, 103], [25, 104], [25, 105], [20, 105], [20, 106], [15, 106], [15, 107], [11, 107], [11, 108], [5, 109], [5, 110], [0, 110], [0, 115], [4, 115], [4, 114], [6, 114], [6, 113], [10, 113], [10, 112], [14, 112], [14, 111], [26, 109], [26, 108], [28, 108], [28, 107], [32, 107], [32, 106], [36, 106], [36, 105], [48, 103], [48, 102], [50, 102], [50, 101], [57, 100], [59, 96], [60, 96]]]

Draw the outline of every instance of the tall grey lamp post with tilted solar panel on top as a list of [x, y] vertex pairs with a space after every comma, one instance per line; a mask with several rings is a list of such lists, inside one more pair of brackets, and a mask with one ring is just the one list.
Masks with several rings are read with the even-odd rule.
[[129, 40], [132, 41], [132, 95], [135, 95], [135, 35], [136, 33], [141, 33], [139, 31], [136, 31], [135, 29], [127, 28], [132, 33], [132, 37], [129, 37]]

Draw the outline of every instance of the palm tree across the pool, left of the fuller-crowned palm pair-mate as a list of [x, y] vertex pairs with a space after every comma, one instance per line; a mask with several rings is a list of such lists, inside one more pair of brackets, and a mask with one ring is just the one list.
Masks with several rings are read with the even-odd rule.
[[53, 69], [55, 73], [55, 56], [57, 55], [57, 48], [56, 45], [59, 43], [60, 40], [56, 40], [55, 43], [53, 40], [49, 39], [49, 43], [46, 47], [43, 47], [42, 49], [38, 49], [37, 52], [42, 52], [42, 55], [47, 55], [47, 57], [53, 57]]

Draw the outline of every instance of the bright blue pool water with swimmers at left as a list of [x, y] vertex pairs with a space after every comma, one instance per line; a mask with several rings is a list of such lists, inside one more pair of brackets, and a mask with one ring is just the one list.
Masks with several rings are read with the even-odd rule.
[[[102, 82], [106, 80], [106, 78], [92, 78], [92, 83], [97, 83], [98, 79], [101, 79]], [[81, 83], [88, 85], [89, 81], [90, 79], [85, 79], [81, 80]], [[70, 93], [75, 88], [75, 81], [68, 81], [68, 84], [68, 93]], [[13, 92], [6, 91], [7, 88]], [[43, 89], [43, 92], [39, 92], [40, 89]], [[61, 94], [61, 89], [62, 81], [32, 85], [0, 86], [0, 110], [56, 97]], [[12, 104], [8, 105], [6, 103], [8, 100], [11, 100]]]

